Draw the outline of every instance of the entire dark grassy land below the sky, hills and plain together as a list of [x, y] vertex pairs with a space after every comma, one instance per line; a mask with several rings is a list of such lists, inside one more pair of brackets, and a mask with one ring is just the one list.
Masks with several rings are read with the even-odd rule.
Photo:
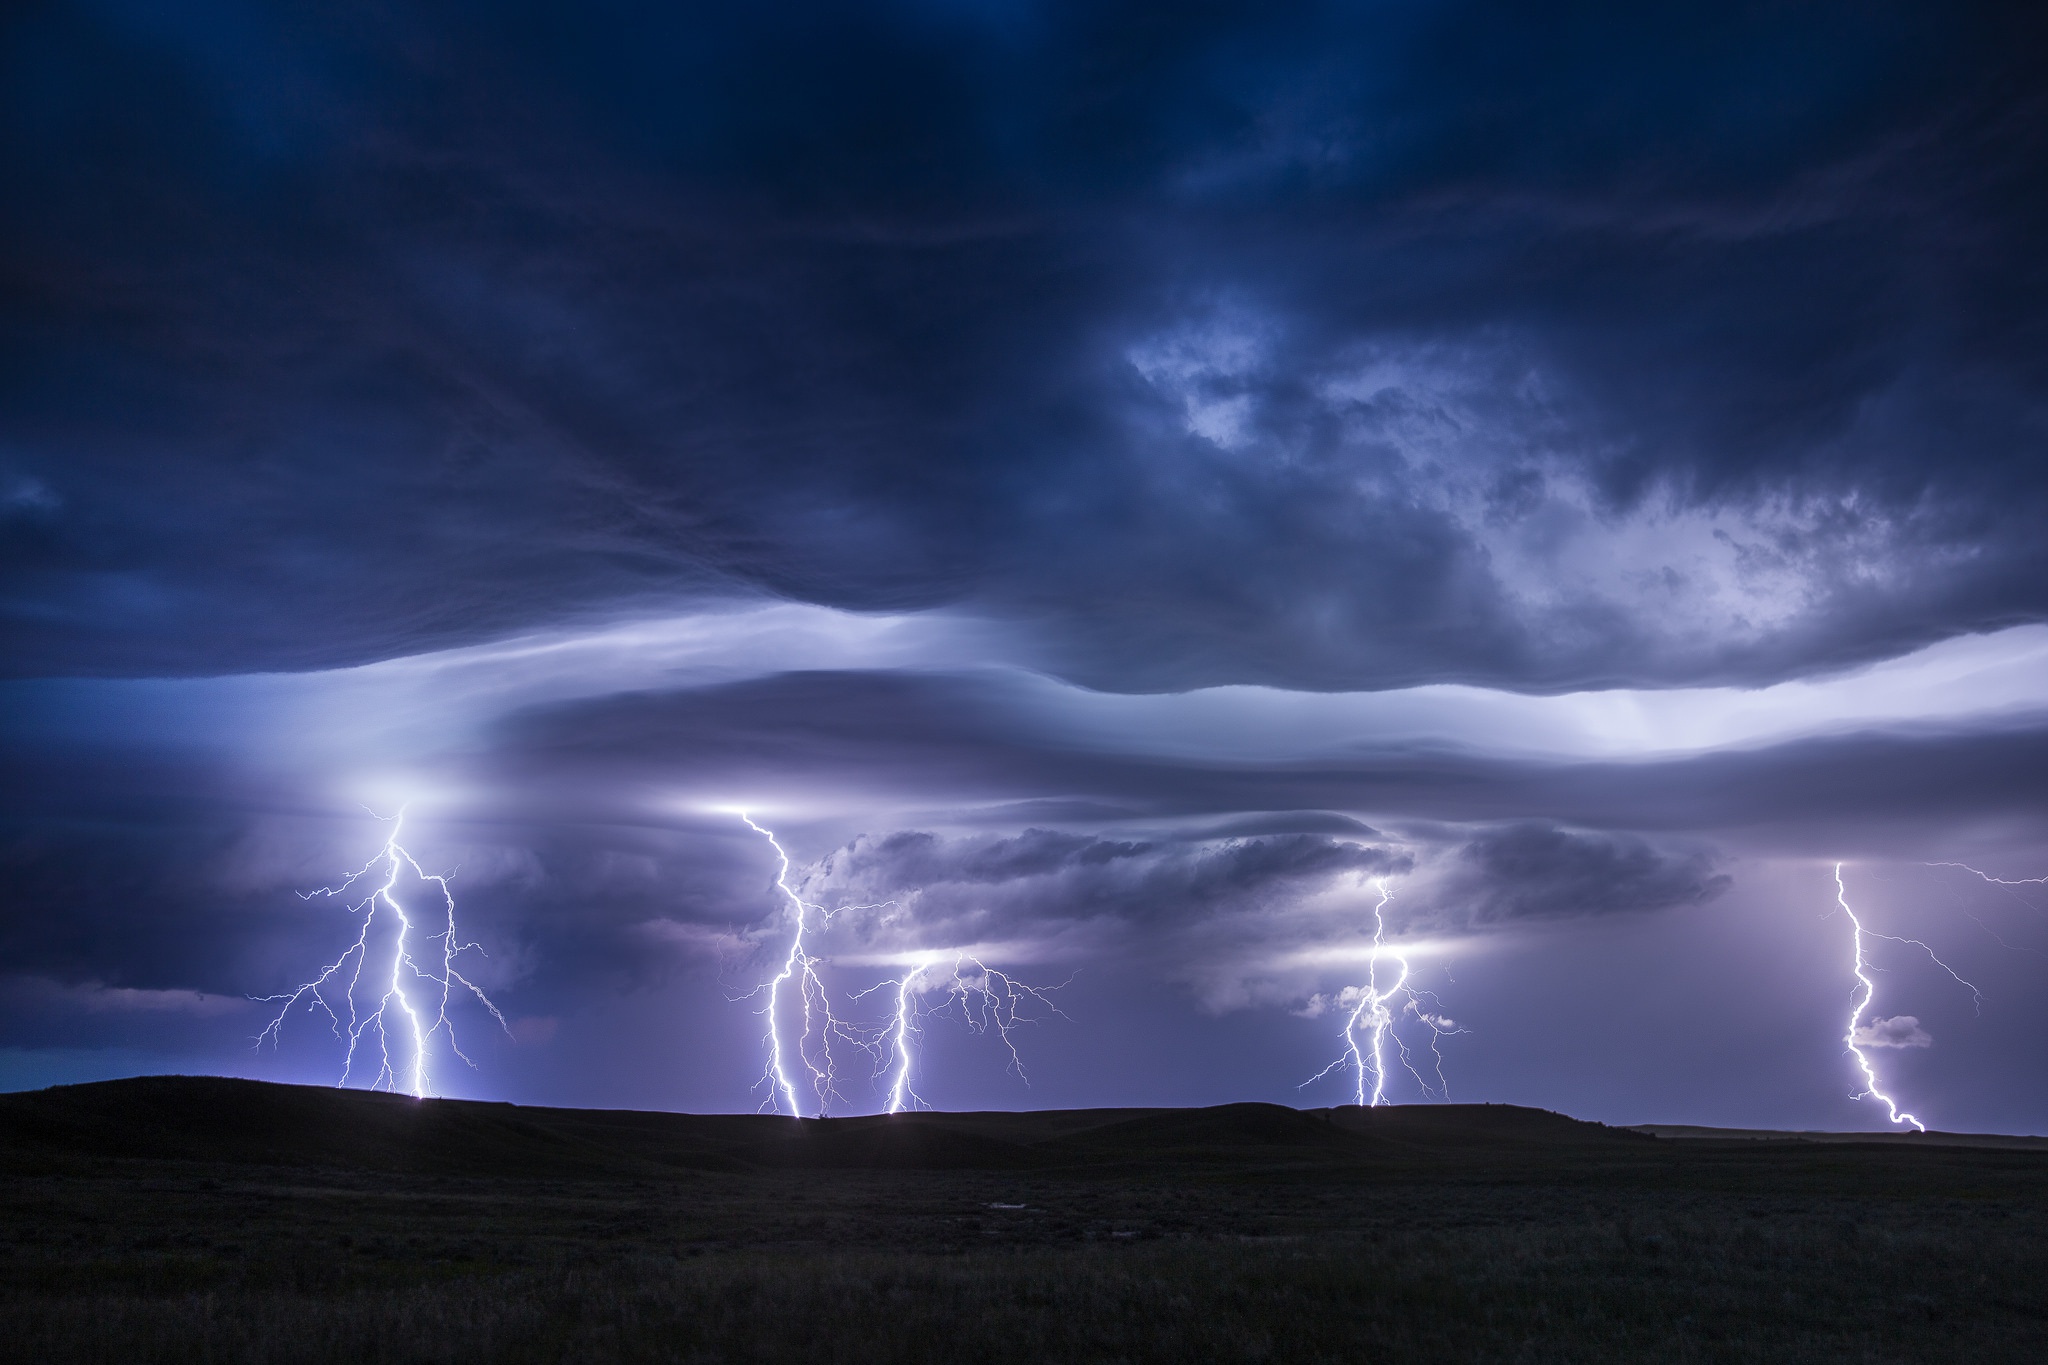
[[[2040, 1152], [1507, 1107], [799, 1128], [166, 1095], [0, 1097], [6, 1359], [2048, 1359]], [[272, 1160], [295, 1121], [319, 1160]]]

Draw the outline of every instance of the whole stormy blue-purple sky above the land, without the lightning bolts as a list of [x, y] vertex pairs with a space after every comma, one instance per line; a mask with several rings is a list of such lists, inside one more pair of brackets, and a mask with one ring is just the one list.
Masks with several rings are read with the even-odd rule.
[[1399, 1103], [1888, 1128], [1841, 864], [1884, 1089], [2048, 1132], [2042, 72], [2040, 6], [10, 4], [0, 1087], [340, 1081], [250, 997], [367, 933], [375, 1009], [307, 892], [403, 810], [504, 1017], [434, 1093], [786, 1109], [745, 812], [807, 1113], [903, 995], [940, 1109], [1346, 1103], [1380, 1003]]

